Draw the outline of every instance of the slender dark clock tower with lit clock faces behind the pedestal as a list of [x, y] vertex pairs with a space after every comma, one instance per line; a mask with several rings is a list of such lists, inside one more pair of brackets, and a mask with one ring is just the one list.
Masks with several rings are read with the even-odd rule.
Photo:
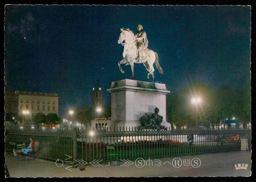
[[92, 88], [92, 120], [102, 117], [103, 111], [103, 99], [102, 88], [99, 84], [99, 80], [96, 80], [96, 84]]

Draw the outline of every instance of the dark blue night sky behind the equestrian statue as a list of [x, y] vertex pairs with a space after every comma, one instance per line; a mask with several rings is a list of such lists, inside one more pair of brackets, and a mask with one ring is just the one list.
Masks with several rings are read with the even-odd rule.
[[[92, 105], [99, 79], [104, 103], [112, 81], [131, 78], [122, 65], [120, 28], [137, 33], [164, 70], [156, 82], [178, 92], [193, 81], [250, 88], [250, 6], [5, 6], [5, 89], [59, 94], [59, 113]], [[143, 64], [135, 79], [148, 81]], [[150, 77], [149, 81], [152, 81]]]

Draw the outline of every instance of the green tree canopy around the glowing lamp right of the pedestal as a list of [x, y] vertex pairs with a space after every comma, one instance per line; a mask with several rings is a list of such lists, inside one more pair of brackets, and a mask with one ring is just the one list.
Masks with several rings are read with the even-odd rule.
[[[201, 100], [196, 106], [191, 102], [194, 97]], [[167, 95], [166, 107], [167, 121], [178, 128], [194, 127], [196, 120], [197, 126], [207, 128], [210, 125], [219, 126], [226, 118], [230, 121], [235, 117], [244, 127], [251, 121], [250, 90], [243, 88], [235, 90], [222, 86], [215, 89], [202, 82], [195, 82], [179, 93]]]

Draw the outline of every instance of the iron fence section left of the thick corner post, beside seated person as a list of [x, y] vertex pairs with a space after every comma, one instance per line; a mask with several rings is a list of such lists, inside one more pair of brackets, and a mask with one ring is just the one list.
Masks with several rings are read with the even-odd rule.
[[9, 142], [25, 143], [25, 146], [28, 146], [30, 137], [35, 139], [37, 157], [55, 161], [57, 158], [65, 158], [65, 154], [74, 155], [74, 131], [72, 130], [10, 130], [5, 136], [6, 147]]

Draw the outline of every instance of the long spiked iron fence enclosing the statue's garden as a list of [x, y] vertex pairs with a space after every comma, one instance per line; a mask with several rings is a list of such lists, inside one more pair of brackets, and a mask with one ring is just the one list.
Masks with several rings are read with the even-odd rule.
[[57, 160], [72, 156], [86, 162], [100, 162], [136, 158], [163, 158], [171, 156], [237, 151], [241, 138], [248, 138], [251, 130], [118, 130], [63, 129], [48, 131], [10, 130], [5, 142], [26, 142], [34, 137], [40, 143], [38, 157]]

